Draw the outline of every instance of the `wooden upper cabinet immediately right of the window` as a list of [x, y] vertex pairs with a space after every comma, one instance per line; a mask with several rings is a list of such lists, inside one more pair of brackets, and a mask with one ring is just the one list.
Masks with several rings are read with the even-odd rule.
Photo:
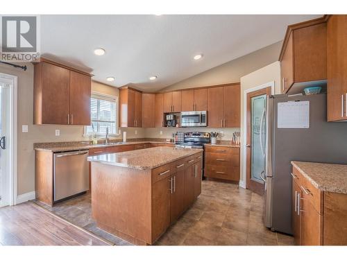
[[128, 87], [119, 89], [119, 111], [122, 128], [141, 128], [142, 93]]

